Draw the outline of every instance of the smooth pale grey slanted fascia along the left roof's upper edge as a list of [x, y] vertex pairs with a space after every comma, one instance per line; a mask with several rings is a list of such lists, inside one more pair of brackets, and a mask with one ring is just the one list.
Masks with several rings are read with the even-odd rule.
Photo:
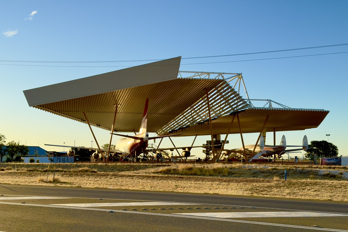
[[116, 90], [175, 80], [181, 56], [91, 77], [24, 90], [29, 106], [108, 93]]

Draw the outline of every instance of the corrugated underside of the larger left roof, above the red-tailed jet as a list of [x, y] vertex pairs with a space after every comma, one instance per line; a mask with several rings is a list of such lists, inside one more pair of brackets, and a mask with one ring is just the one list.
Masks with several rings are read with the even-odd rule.
[[213, 89], [221, 82], [221, 79], [175, 79], [34, 107], [80, 122], [85, 120], [84, 111], [92, 125], [111, 130], [114, 105], [119, 105], [114, 130], [132, 132], [139, 131], [145, 99], [149, 97], [147, 130], [157, 132], [206, 96], [206, 88]]

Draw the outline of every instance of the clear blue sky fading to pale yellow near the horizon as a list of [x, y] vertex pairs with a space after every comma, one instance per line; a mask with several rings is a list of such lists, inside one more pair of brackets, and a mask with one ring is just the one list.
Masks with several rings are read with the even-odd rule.
[[[0, 8], [0, 133], [7, 142], [90, 146], [88, 126], [33, 109], [23, 90], [134, 66], [127, 63], [28, 63], [5, 61], [117, 61], [165, 59], [254, 53], [344, 44], [348, 41], [347, 1], [1, 1]], [[36, 11], [36, 12], [35, 12]], [[182, 71], [242, 72], [251, 98], [272, 99], [294, 108], [330, 110], [315, 129], [285, 134], [287, 144], [327, 140], [348, 155], [347, 61], [348, 54], [242, 61], [289, 56], [347, 52], [348, 46], [184, 59]], [[15, 64], [15, 65], [14, 65]], [[20, 64], [20, 65], [18, 65]], [[109, 133], [94, 128], [98, 142], [108, 143]], [[272, 141], [272, 134], [267, 135]], [[254, 144], [257, 135], [246, 135]], [[116, 143], [113, 139], [113, 144]], [[187, 139], [187, 138], [186, 138]], [[195, 144], [209, 137], [199, 137]], [[227, 148], [241, 146], [229, 136]], [[189, 140], [191, 140], [189, 138]], [[184, 139], [174, 140], [185, 145]], [[193, 141], [193, 137], [192, 140]], [[158, 142], [157, 142], [158, 143]], [[191, 144], [191, 142], [189, 142]], [[94, 143], [95, 144], [95, 143]], [[171, 146], [169, 140], [165, 143]], [[267, 144], [267, 142], [266, 142]], [[196, 155], [202, 155], [193, 151]]]

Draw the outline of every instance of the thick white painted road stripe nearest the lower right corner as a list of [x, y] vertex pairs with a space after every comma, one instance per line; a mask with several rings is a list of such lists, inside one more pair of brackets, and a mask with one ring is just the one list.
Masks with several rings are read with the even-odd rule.
[[239, 212], [239, 213], [181, 213], [180, 215], [217, 217], [217, 218], [242, 218], [242, 217], [347, 217], [348, 214], [317, 213], [317, 212]]

